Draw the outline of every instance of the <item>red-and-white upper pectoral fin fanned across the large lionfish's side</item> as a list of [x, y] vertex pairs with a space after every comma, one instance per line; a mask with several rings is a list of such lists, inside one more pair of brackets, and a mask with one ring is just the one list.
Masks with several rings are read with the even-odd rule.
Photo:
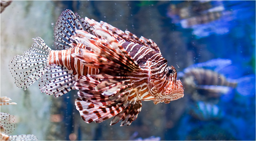
[[81, 54], [73, 54], [73, 57], [77, 57], [85, 65], [105, 69], [108, 72], [132, 72], [136, 69], [141, 69], [130, 54], [127, 53], [118, 41], [116, 41], [107, 31], [95, 30], [95, 32], [101, 36], [104, 34], [104, 37], [111, 40], [105, 43], [98, 37], [93, 36], [93, 39], [90, 39], [87, 35], [83, 35], [89, 34], [87, 32], [83, 32], [83, 34], [76, 34], [71, 38], [77, 40], [79, 43], [88, 44], [92, 51], [90, 52], [89, 50], [80, 48]]

